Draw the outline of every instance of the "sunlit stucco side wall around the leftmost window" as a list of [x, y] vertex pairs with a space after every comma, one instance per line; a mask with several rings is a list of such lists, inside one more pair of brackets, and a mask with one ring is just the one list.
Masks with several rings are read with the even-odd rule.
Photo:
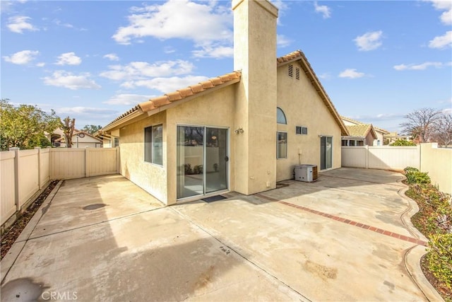
[[[166, 112], [145, 118], [120, 130], [121, 175], [136, 183], [161, 202], [167, 203]], [[163, 165], [144, 161], [144, 128], [163, 124]]]

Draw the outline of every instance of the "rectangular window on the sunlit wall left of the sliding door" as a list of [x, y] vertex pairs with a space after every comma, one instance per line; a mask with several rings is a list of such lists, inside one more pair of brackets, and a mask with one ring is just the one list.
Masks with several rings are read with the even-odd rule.
[[144, 129], [144, 161], [163, 165], [163, 126], [146, 127]]

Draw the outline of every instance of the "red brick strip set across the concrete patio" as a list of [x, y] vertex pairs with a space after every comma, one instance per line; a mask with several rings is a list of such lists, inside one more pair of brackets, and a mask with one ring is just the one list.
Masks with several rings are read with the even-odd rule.
[[307, 211], [307, 212], [309, 212], [311, 214], [315, 214], [315, 215], [323, 216], [323, 217], [326, 217], [328, 219], [332, 219], [332, 220], [335, 220], [335, 221], [347, 223], [347, 224], [350, 224], [350, 226], [356, 226], [357, 228], [364, 228], [364, 230], [373, 231], [375, 233], [380, 233], [381, 235], [390, 236], [390, 237], [393, 237], [393, 238], [396, 238], [396, 239], [408, 241], [410, 243], [415, 243], [417, 245], [427, 246], [427, 242], [425, 242], [424, 240], [420, 240], [420, 239], [417, 239], [417, 238], [405, 236], [405, 235], [402, 235], [402, 234], [399, 234], [399, 233], [393, 233], [391, 231], [383, 230], [383, 228], [376, 228], [374, 226], [369, 226], [369, 225], [367, 225], [365, 223], [359, 223], [357, 221], [352, 221], [350, 219], [345, 219], [343, 217], [335, 216], [335, 215], [332, 215], [332, 214], [327, 214], [327, 213], [324, 213], [322, 211], [317, 211], [317, 210], [314, 210], [314, 209], [309, 209], [307, 207], [298, 206], [297, 204], [292, 204], [291, 202], [285, 202], [285, 201], [280, 200], [280, 199], [275, 199], [273, 197], [268, 197], [268, 196], [266, 196], [264, 194], [258, 193], [258, 194], [256, 194], [256, 196], [260, 197], [260, 198], [263, 198], [263, 199], [267, 199], [267, 200], [269, 200], [271, 202], [278, 202], [278, 203], [284, 204], [284, 205], [286, 205], [288, 207], [292, 207], [292, 208], [295, 208], [295, 209], [300, 209], [300, 210], [303, 210], [303, 211]]

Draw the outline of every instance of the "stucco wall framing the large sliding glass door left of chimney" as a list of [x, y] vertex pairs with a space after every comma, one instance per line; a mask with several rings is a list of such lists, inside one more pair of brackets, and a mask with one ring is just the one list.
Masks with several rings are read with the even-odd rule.
[[[167, 188], [168, 204], [177, 200], [177, 125], [196, 125], [229, 128], [230, 190], [234, 190], [234, 91], [235, 85], [221, 88], [207, 95], [183, 103], [167, 112]], [[164, 127], [165, 135], [165, 127]], [[122, 146], [122, 145], [121, 145]]]

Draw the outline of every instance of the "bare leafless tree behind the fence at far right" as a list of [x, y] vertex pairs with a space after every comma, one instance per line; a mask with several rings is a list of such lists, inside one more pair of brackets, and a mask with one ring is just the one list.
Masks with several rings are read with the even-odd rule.
[[400, 127], [405, 134], [410, 135], [420, 143], [427, 143], [434, 133], [434, 126], [439, 119], [441, 111], [434, 108], [422, 108], [405, 115], [408, 122], [403, 122]]

